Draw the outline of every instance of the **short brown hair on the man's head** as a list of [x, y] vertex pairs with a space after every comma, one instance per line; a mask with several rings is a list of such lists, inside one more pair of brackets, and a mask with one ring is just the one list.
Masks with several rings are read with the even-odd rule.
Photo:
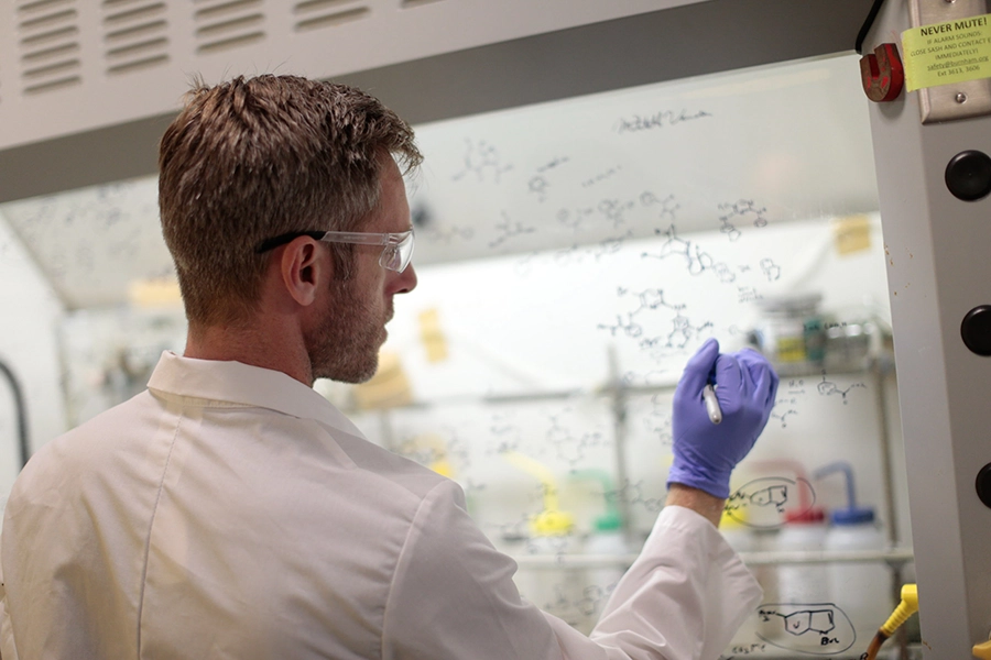
[[189, 322], [248, 318], [264, 240], [359, 230], [384, 154], [404, 173], [423, 160], [410, 125], [352, 87], [274, 75], [197, 84], [159, 150], [162, 233]]

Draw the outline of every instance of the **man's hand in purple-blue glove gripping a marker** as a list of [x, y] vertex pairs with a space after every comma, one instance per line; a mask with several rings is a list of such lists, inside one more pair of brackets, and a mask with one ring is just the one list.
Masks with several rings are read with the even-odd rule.
[[[703, 389], [715, 372], [722, 422], [712, 424]], [[729, 497], [730, 473], [750, 452], [771, 417], [777, 374], [756, 351], [719, 354], [707, 340], [691, 356], [674, 395], [674, 464], [667, 483]]]

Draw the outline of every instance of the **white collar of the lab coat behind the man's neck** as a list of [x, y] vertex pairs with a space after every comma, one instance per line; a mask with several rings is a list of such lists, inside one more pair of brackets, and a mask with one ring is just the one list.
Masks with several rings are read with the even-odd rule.
[[250, 406], [314, 419], [352, 436], [363, 433], [330, 402], [282, 372], [241, 362], [197, 360], [165, 351], [148, 381], [165, 399], [197, 399], [207, 407]]

